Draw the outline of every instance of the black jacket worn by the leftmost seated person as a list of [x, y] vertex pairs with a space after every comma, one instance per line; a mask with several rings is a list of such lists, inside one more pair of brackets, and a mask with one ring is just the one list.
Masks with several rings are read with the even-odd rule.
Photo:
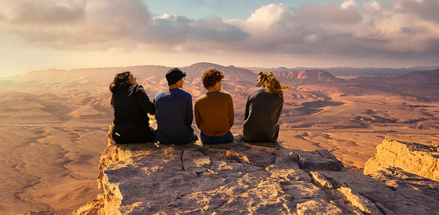
[[154, 115], [154, 103], [150, 101], [143, 86], [130, 85], [112, 94], [111, 105], [115, 109], [115, 131], [136, 133], [149, 129], [150, 118]]

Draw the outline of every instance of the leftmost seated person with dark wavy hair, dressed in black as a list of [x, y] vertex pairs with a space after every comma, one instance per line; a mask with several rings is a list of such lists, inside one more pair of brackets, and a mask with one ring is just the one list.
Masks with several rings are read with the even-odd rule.
[[154, 103], [150, 101], [137, 77], [129, 71], [119, 73], [110, 84], [111, 105], [115, 109], [115, 127], [112, 138], [119, 144], [154, 142], [154, 129], [150, 118], [154, 115]]

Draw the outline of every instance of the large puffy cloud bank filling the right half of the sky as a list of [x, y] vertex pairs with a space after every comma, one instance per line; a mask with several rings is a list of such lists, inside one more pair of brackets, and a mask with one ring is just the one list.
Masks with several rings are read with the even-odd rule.
[[[408, 1], [408, 0], [407, 0]], [[412, 1], [412, 4], [422, 5]], [[401, 2], [393, 5], [369, 1], [362, 7], [353, 1], [342, 5], [303, 3], [299, 8], [268, 5], [246, 21], [230, 21], [250, 37], [239, 49], [277, 53], [327, 53], [335, 55], [438, 55], [431, 41], [439, 39], [439, 26], [407, 12]], [[430, 3], [436, 7], [435, 3]], [[271, 18], [268, 18], [271, 14]], [[256, 25], [253, 20], [261, 20]], [[265, 21], [265, 22], [264, 22]]]

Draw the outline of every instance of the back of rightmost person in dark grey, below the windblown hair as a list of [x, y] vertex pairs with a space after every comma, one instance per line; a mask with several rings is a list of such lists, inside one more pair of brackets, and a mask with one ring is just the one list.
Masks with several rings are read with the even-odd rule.
[[281, 116], [283, 99], [269, 94], [261, 86], [250, 93], [244, 116], [243, 138], [248, 142], [270, 142], [278, 132], [277, 123]]

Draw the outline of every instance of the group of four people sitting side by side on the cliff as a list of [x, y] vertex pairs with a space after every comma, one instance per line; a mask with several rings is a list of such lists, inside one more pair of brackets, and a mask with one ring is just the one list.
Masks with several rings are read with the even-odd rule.
[[[169, 90], [158, 92], [151, 101], [137, 77], [119, 73], [110, 84], [111, 105], [115, 110], [112, 138], [118, 144], [155, 142], [187, 144], [198, 140], [192, 128], [193, 116], [203, 144], [233, 142], [230, 128], [235, 121], [233, 99], [221, 92], [224, 74], [211, 68], [202, 75], [207, 92], [195, 99], [181, 88], [186, 73], [171, 68], [165, 77]], [[245, 142], [276, 142], [278, 121], [283, 109], [282, 84], [273, 73], [259, 73], [256, 90], [248, 96], [242, 138]], [[156, 116], [157, 129], [150, 127], [147, 114]]]

